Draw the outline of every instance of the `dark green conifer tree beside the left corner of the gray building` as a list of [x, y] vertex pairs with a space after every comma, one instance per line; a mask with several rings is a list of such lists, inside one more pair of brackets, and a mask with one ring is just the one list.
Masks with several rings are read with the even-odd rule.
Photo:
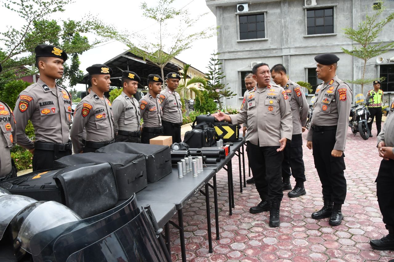
[[221, 70], [220, 65], [222, 64], [218, 58], [220, 53], [211, 54], [212, 57], [209, 61], [208, 73], [206, 73], [206, 78], [208, 79], [205, 89], [208, 90], [209, 96], [214, 100], [219, 102], [220, 109], [223, 109], [223, 105], [220, 101], [221, 98], [230, 99], [236, 94], [231, 91], [228, 84], [222, 83], [224, 77], [226, 77]]

